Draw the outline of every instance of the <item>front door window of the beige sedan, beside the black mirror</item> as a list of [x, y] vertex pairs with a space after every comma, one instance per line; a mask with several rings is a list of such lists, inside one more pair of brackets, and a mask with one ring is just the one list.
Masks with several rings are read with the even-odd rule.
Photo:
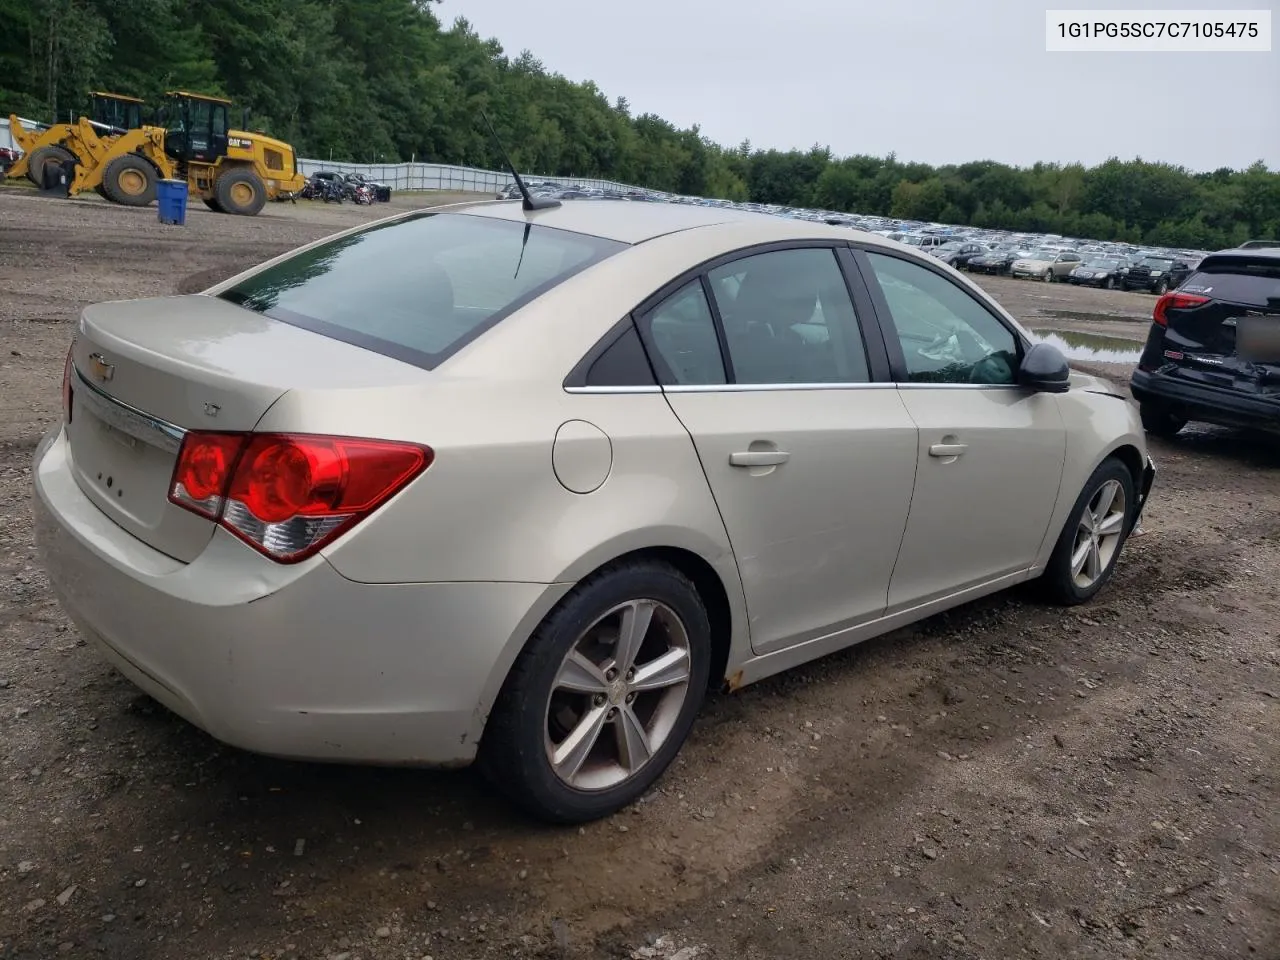
[[911, 383], [1011, 384], [1018, 339], [972, 294], [901, 257], [870, 253]]

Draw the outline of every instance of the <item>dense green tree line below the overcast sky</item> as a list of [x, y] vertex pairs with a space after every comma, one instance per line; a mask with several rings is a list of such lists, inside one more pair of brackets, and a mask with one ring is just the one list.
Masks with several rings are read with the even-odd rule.
[[[447, 8], [445, 8], [447, 9]], [[1280, 172], [1190, 172], [722, 146], [591, 82], [508, 56], [436, 0], [0, 0], [0, 111], [65, 119], [86, 92], [229, 96], [302, 156], [522, 170], [730, 200], [1187, 247], [1280, 237]], [[236, 113], [233, 116], [238, 118]]]

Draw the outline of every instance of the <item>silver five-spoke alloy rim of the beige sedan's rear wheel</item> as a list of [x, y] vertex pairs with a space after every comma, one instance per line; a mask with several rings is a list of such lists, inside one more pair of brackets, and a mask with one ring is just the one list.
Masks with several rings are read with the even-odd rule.
[[576, 790], [616, 787], [671, 736], [689, 696], [689, 631], [658, 600], [628, 600], [570, 646], [547, 703], [544, 744]]

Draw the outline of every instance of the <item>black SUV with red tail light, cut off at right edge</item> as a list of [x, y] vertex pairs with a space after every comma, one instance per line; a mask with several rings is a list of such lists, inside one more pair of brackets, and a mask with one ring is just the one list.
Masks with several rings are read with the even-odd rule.
[[1224, 250], [1156, 301], [1130, 389], [1143, 426], [1280, 431], [1280, 248]]

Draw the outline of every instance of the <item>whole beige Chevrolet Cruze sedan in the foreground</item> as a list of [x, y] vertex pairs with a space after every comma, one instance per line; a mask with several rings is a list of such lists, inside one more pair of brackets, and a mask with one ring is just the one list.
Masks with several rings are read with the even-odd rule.
[[955, 270], [529, 206], [83, 310], [37, 541], [138, 687], [264, 754], [477, 762], [573, 823], [641, 796], [710, 689], [1107, 582], [1155, 476], [1137, 407]]

